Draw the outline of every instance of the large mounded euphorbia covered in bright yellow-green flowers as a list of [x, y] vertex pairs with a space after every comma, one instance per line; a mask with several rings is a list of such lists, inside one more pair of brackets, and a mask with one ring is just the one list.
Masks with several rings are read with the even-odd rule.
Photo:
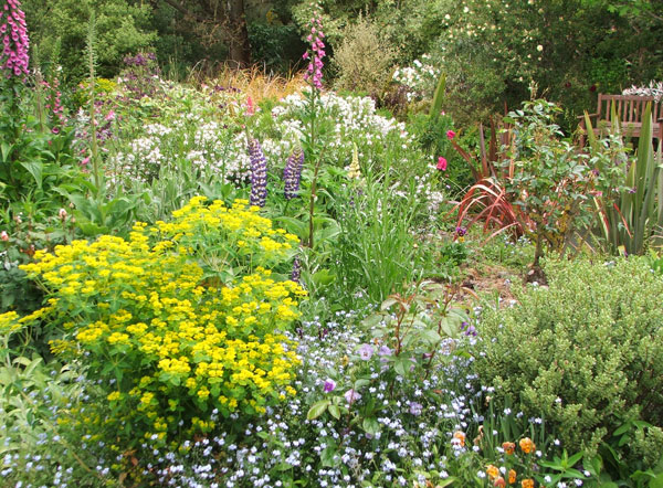
[[[297, 240], [245, 201], [203, 200], [171, 222], [136, 223], [127, 241], [38, 252], [22, 268], [46, 290], [46, 307], [0, 316], [6, 330], [45, 318], [53, 352], [103, 385], [107, 406], [97, 402], [86, 422], [113, 442], [210, 432], [214, 418], [250, 418], [295, 394], [296, 344], [281, 331], [306, 293], [263, 265], [287, 259]], [[214, 275], [210, 263], [238, 273]]]

